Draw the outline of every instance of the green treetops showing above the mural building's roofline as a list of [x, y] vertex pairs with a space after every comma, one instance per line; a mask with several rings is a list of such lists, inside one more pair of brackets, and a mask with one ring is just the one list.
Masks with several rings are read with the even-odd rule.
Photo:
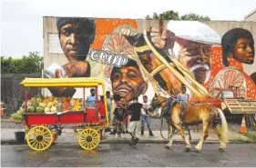
[[[193, 21], [210, 21], [209, 16], [202, 16], [202, 15], [196, 15], [193, 13], [187, 14], [187, 15], [182, 15], [179, 17], [179, 13], [175, 11], [166, 11], [163, 14], [163, 19], [164, 20], [193, 20]], [[157, 13], [153, 13], [152, 17], [150, 15], [146, 16], [146, 19], [159, 19], [160, 15]]]

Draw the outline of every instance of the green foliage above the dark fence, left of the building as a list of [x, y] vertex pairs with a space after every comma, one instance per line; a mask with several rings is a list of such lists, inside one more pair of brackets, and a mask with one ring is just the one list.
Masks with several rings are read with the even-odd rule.
[[44, 58], [38, 52], [30, 52], [22, 58], [1, 56], [1, 74], [32, 74], [41, 73]]

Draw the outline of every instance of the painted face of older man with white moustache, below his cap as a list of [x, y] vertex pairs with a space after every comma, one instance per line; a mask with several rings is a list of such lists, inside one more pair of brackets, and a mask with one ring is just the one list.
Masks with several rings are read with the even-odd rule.
[[204, 84], [210, 77], [210, 54], [210, 44], [186, 41], [180, 44], [179, 62], [195, 75], [200, 84]]

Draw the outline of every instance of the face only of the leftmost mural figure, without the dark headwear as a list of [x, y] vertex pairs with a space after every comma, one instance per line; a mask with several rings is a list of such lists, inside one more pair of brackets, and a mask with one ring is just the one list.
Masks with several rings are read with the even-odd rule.
[[90, 47], [90, 33], [77, 24], [61, 27], [60, 44], [68, 61], [85, 61]]

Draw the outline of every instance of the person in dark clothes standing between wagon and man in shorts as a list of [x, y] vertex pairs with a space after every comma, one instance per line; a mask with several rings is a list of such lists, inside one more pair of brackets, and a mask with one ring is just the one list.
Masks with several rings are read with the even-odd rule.
[[116, 137], [118, 137], [118, 135], [123, 137], [123, 121], [125, 114], [126, 110], [121, 106], [121, 104], [118, 104], [114, 111], [114, 115], [116, 118], [115, 130], [117, 130], [117, 133], [115, 135]]

